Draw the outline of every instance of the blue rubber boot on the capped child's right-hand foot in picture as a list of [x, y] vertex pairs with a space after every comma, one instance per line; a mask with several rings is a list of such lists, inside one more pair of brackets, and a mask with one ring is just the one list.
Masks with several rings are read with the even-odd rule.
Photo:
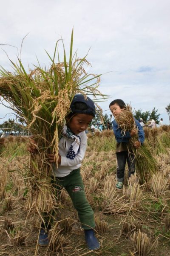
[[84, 230], [85, 231], [85, 241], [89, 250], [97, 250], [100, 248], [99, 241], [94, 236], [94, 230]]

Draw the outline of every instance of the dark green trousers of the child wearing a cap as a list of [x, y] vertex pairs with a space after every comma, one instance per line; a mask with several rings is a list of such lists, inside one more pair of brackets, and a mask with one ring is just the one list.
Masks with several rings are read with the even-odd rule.
[[[53, 177], [52, 183], [55, 188], [57, 198], [59, 197], [62, 188], [65, 188], [65, 190], [68, 192], [73, 205], [78, 212], [82, 228], [94, 228], [94, 212], [91, 209], [90, 204], [88, 204], [85, 196], [84, 184], [80, 175], [80, 169], [73, 170], [69, 175], [65, 177]], [[54, 212], [51, 212], [51, 215], [54, 215]], [[42, 222], [42, 227], [50, 229], [53, 217], [50, 217], [49, 213], [44, 212], [42, 213], [42, 218], [45, 221], [45, 224]]]

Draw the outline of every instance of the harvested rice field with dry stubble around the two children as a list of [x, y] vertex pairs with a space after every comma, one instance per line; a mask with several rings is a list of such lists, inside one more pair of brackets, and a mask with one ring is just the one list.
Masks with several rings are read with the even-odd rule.
[[[136, 174], [129, 180], [126, 172], [124, 187], [117, 190], [113, 132], [88, 134], [81, 174], [101, 244], [94, 252], [85, 245], [65, 190], [55, 205], [49, 246], [37, 245], [41, 220], [38, 210], [28, 208], [26, 138], [7, 137], [0, 144], [0, 256], [170, 255], [170, 126], [147, 128], [145, 137], [147, 154], [139, 157]], [[150, 173], [145, 181], [141, 170]]]

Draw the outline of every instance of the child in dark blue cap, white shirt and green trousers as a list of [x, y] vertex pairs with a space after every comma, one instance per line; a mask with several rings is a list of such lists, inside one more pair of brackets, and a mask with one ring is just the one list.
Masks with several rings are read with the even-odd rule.
[[[71, 102], [71, 113], [66, 117], [66, 125], [59, 140], [58, 168], [54, 161], [54, 154], [48, 154], [52, 163], [53, 184], [57, 196], [65, 188], [78, 212], [79, 220], [85, 232], [85, 241], [89, 250], [97, 250], [99, 241], [94, 236], [94, 212], [85, 196], [84, 185], [80, 175], [80, 166], [85, 156], [87, 137], [85, 130], [95, 116], [94, 102], [83, 95], [75, 95]], [[33, 142], [33, 141], [32, 141]], [[34, 142], [33, 142], [34, 143]], [[34, 145], [28, 145], [29, 151], [34, 151]], [[39, 235], [39, 245], [48, 244], [48, 230], [51, 229], [52, 219], [48, 213], [42, 213], [43, 220]]]

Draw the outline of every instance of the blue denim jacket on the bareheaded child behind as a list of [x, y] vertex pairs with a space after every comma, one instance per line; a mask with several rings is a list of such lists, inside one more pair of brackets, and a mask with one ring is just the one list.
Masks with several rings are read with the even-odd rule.
[[[144, 143], [144, 131], [143, 131], [143, 128], [142, 128], [142, 126], [140, 125], [140, 123], [138, 122], [138, 120], [135, 117], [134, 117], [134, 119], [135, 119], [136, 126], [138, 128], [139, 141], [140, 141], [140, 143], [143, 144]], [[129, 139], [131, 138], [130, 131], [127, 131], [125, 133], [125, 135], [123, 135], [121, 133], [121, 129], [118, 127], [118, 124], [116, 123], [115, 120], [113, 120], [112, 125], [113, 125], [113, 132], [114, 132], [114, 135], [115, 135], [117, 143], [120, 143], [120, 142], [128, 143]]]

